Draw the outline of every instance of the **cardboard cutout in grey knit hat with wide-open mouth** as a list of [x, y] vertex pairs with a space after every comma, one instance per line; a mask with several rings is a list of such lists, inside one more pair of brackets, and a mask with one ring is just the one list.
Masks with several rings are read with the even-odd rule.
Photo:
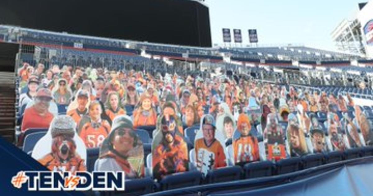
[[86, 171], [87, 152], [83, 141], [75, 134], [75, 122], [70, 116], [56, 116], [49, 130], [32, 150], [32, 158], [51, 171]]

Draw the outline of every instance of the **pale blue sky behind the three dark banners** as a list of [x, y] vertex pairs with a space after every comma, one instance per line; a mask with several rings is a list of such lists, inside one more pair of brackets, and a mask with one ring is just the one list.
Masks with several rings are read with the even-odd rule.
[[[222, 28], [257, 29], [258, 44], [299, 43], [335, 50], [330, 33], [367, 0], [206, 0], [210, 7], [211, 38], [222, 42]], [[233, 36], [232, 36], [233, 39]]]

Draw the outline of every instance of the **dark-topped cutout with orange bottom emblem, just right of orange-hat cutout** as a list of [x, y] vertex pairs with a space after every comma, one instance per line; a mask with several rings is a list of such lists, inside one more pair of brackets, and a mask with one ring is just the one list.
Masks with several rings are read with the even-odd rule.
[[267, 127], [264, 130], [264, 145], [267, 160], [278, 161], [286, 158], [285, 131], [278, 124], [276, 115], [270, 113], [267, 117]]

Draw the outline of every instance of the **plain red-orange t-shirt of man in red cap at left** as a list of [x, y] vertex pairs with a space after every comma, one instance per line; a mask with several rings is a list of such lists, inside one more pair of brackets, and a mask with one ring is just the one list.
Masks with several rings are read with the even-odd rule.
[[21, 131], [24, 132], [28, 128], [49, 128], [54, 116], [47, 112], [46, 115], [41, 116], [36, 110], [35, 106], [27, 108], [23, 115]]

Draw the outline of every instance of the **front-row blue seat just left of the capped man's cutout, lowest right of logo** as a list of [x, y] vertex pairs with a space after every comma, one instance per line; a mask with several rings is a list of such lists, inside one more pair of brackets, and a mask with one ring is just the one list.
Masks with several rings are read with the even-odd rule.
[[201, 179], [202, 173], [199, 171], [188, 171], [167, 175], [159, 182], [160, 190], [197, 186], [201, 183]]

